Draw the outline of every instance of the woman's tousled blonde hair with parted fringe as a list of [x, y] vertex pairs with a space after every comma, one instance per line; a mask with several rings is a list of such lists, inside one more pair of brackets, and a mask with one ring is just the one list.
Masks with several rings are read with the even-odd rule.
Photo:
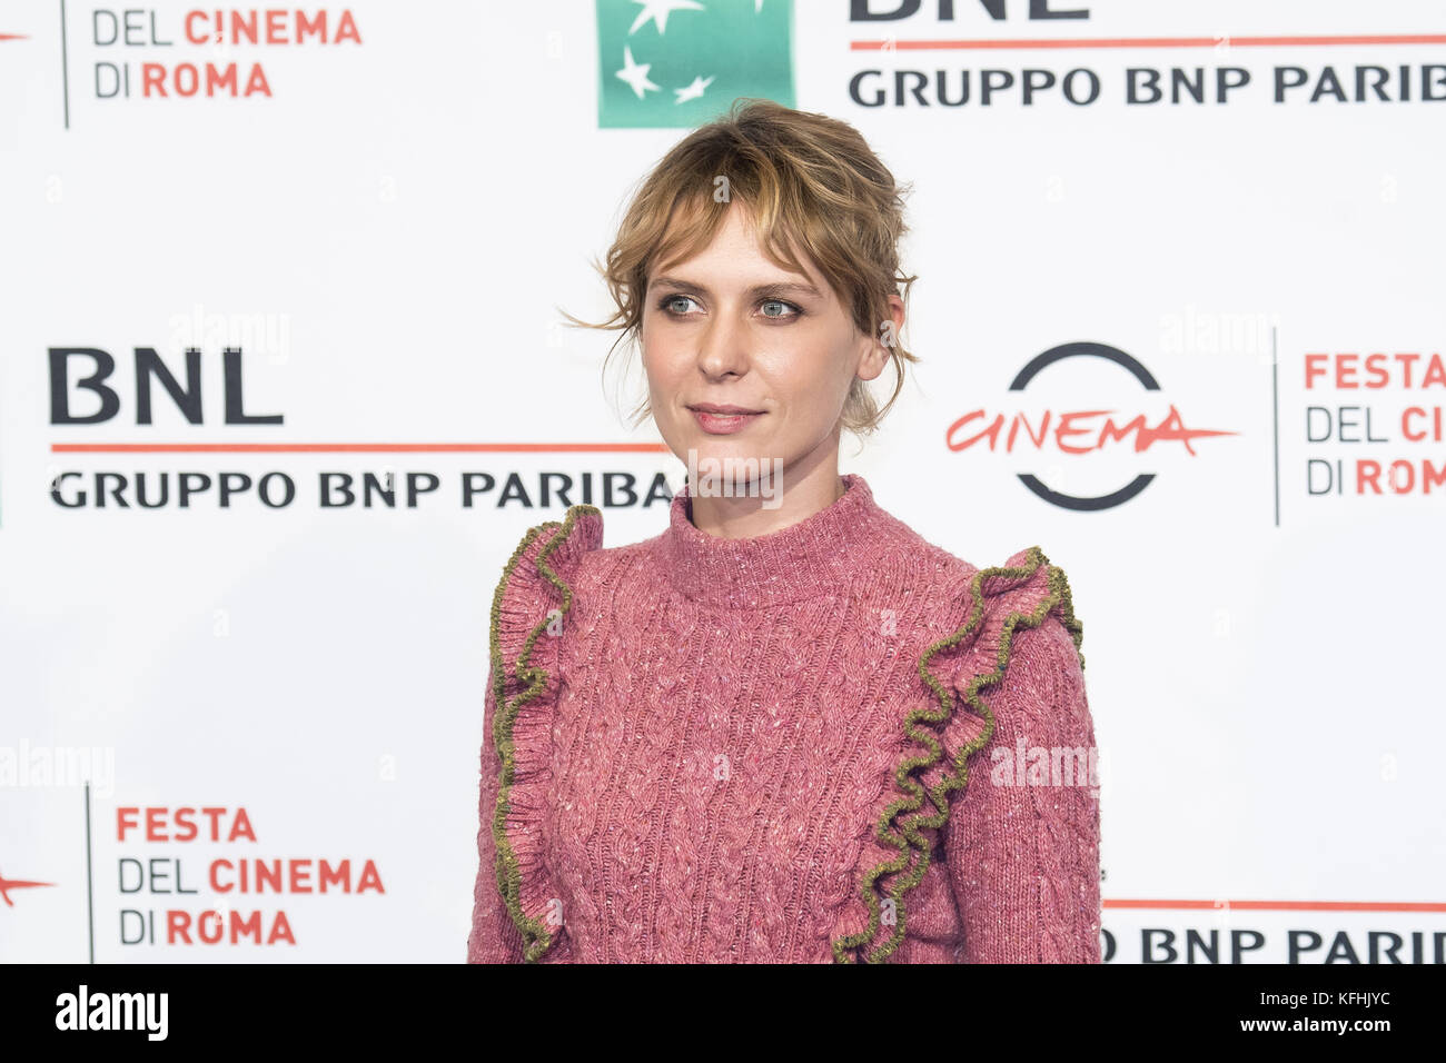
[[[594, 260], [616, 304], [613, 315], [593, 324], [562, 314], [584, 328], [623, 330], [609, 359], [623, 340], [636, 346], [652, 268], [706, 249], [732, 201], [739, 200], [752, 214], [769, 259], [803, 273], [788, 247], [803, 249], [840, 294], [860, 333], [878, 338], [886, 330], [879, 341], [894, 364], [894, 393], [879, 408], [866, 382], [855, 377], [840, 418], [842, 427], [857, 435], [872, 432], [904, 388], [904, 364], [918, 362], [894, 336], [888, 302], [889, 295], [902, 295], [907, 307], [918, 279], [904, 276], [898, 259], [898, 240], [908, 231], [904, 195], [911, 188], [895, 184], [853, 126], [772, 100], [740, 97], [658, 162], [633, 195], [606, 266]], [[651, 412], [645, 396], [632, 424]]]

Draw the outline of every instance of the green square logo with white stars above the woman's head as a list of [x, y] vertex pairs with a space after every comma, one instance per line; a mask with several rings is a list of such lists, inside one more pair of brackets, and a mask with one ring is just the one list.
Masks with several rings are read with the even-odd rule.
[[794, 107], [791, 0], [597, 0], [603, 129], [693, 127], [740, 95]]

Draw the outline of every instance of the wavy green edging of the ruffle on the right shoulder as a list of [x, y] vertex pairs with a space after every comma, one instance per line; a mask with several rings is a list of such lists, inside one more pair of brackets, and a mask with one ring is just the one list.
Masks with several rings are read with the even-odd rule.
[[[881, 875], [904, 871], [910, 863], [910, 849], [912, 848], [917, 849], [920, 853], [920, 859], [915, 863], [914, 871], [905, 876], [895, 878], [889, 888], [889, 897], [894, 900], [898, 913], [898, 918], [895, 920], [894, 934], [892, 937], [889, 937], [888, 942], [875, 949], [866, 957], [866, 962], [882, 963], [885, 959], [889, 957], [889, 955], [895, 949], [898, 949], [899, 943], [904, 940], [904, 930], [907, 924], [904, 895], [910, 889], [914, 889], [924, 879], [924, 874], [928, 871], [928, 863], [931, 856], [931, 846], [928, 843], [928, 839], [920, 834], [920, 830], [925, 827], [943, 827], [946, 823], [949, 823], [949, 797], [947, 797], [949, 791], [963, 790], [967, 785], [969, 756], [977, 752], [979, 749], [983, 749], [985, 745], [989, 743], [989, 739], [993, 738], [993, 730], [995, 730], [993, 713], [989, 710], [989, 706], [985, 704], [983, 699], [979, 697], [979, 688], [993, 683], [999, 683], [1004, 678], [1005, 670], [1009, 665], [1009, 646], [1014, 639], [1015, 628], [1021, 623], [1025, 628], [1038, 628], [1044, 622], [1044, 618], [1048, 616], [1056, 606], [1061, 606], [1064, 629], [1070, 633], [1070, 636], [1074, 641], [1074, 651], [1079, 654], [1080, 668], [1084, 667], [1084, 654], [1079, 652], [1080, 644], [1083, 642], [1084, 638], [1083, 625], [1074, 616], [1074, 603], [1070, 597], [1070, 584], [1069, 580], [1064, 577], [1064, 571], [1057, 565], [1050, 564], [1050, 558], [1047, 558], [1038, 547], [1030, 547], [1025, 551], [1025, 554], [1028, 560], [1024, 565], [1014, 568], [1011, 567], [980, 568], [979, 571], [976, 571], [969, 584], [972, 607], [969, 619], [964, 622], [964, 626], [956, 631], [949, 638], [941, 639], [940, 642], [931, 645], [928, 649], [923, 652], [923, 655], [918, 659], [920, 678], [924, 680], [925, 686], [928, 686], [938, 697], [938, 709], [936, 710], [930, 707], [923, 707], [910, 712], [908, 716], [904, 719], [904, 733], [912, 738], [915, 742], [920, 742], [921, 745], [927, 746], [930, 749], [930, 754], [923, 756], [908, 756], [899, 762], [898, 769], [895, 771], [894, 778], [899, 784], [899, 787], [908, 793], [908, 797], [902, 797], [898, 801], [891, 803], [889, 807], [884, 811], [884, 816], [879, 819], [878, 837], [879, 840], [888, 842], [889, 845], [895, 846], [899, 850], [899, 855], [892, 861], [885, 861], [884, 863], [879, 863], [878, 866], [870, 869], [868, 875], [865, 875], [860, 894], [865, 902], [869, 905], [869, 926], [866, 930], [862, 930], [856, 934], [846, 934], [844, 937], [834, 939], [833, 957], [836, 963], [853, 963], [855, 959], [850, 955], [850, 950], [857, 949], [866, 944], [868, 942], [873, 940], [873, 936], [879, 930], [879, 898], [873, 889], [873, 884], [878, 881]], [[1038, 609], [1035, 609], [1032, 613], [1011, 612], [1005, 618], [1004, 629], [999, 636], [998, 670], [986, 675], [976, 675], [969, 681], [969, 684], [963, 691], [964, 700], [969, 701], [970, 706], [973, 706], [976, 713], [983, 716], [985, 727], [973, 740], [962, 746], [959, 752], [954, 755], [953, 761], [954, 772], [950, 774], [946, 771], [943, 778], [934, 785], [933, 790], [928, 791], [928, 795], [938, 811], [934, 814], [918, 813], [918, 808], [924, 803], [925, 791], [924, 787], [918, 782], [918, 780], [912, 777], [912, 772], [917, 768], [927, 768], [936, 764], [943, 755], [943, 748], [940, 746], [938, 739], [930, 729], [927, 727], [918, 729], [915, 727], [915, 725], [921, 720], [927, 720], [930, 723], [943, 723], [947, 722], [954, 712], [954, 699], [953, 693], [949, 688], [949, 684], [940, 683], [940, 680], [933, 673], [928, 671], [928, 661], [940, 651], [949, 649], [950, 646], [959, 644], [962, 639], [975, 633], [980, 628], [980, 625], [983, 623], [983, 607], [985, 607], [983, 581], [986, 579], [1001, 577], [1008, 580], [1028, 580], [1040, 570], [1040, 565], [1047, 567], [1045, 580], [1048, 586], [1048, 594], [1040, 603]], [[902, 820], [899, 823], [899, 830], [902, 832], [901, 836], [892, 827], [895, 817], [902, 811], [914, 811], [918, 814], [907, 820]]]

